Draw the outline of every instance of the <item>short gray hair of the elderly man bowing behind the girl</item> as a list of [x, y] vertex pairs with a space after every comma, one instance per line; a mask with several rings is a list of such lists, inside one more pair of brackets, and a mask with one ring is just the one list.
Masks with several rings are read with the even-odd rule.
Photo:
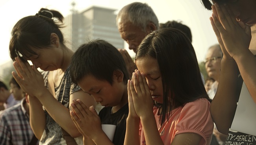
[[146, 3], [134, 2], [124, 6], [117, 14], [117, 25], [119, 23], [119, 19], [121, 19], [122, 22], [131, 22], [132, 24], [141, 27], [143, 31], [146, 30], [149, 22], [152, 22], [156, 25], [156, 29], [159, 29], [156, 14]]

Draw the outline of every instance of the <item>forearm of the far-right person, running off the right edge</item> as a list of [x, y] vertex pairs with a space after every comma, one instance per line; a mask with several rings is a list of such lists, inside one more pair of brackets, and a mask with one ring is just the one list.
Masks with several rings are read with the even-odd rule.
[[246, 53], [234, 56], [234, 59], [252, 99], [256, 103], [256, 58], [248, 50]]

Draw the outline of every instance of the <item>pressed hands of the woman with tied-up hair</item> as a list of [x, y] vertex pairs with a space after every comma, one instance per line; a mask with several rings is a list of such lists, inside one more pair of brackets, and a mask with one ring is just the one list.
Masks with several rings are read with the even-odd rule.
[[43, 75], [35, 65], [31, 66], [28, 62], [23, 62], [19, 57], [16, 57], [13, 66], [17, 72], [12, 72], [13, 77], [28, 95], [40, 97], [45, 91], [48, 91], [44, 84]]

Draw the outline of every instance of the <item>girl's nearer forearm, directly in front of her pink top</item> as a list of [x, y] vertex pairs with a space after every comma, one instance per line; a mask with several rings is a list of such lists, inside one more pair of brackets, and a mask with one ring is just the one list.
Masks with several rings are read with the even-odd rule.
[[144, 130], [147, 145], [163, 145], [153, 112], [147, 115], [147, 118], [141, 118], [141, 125]]

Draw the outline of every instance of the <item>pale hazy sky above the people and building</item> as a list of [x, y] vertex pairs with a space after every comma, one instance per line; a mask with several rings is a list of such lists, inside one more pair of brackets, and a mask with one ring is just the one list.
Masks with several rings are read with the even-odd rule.
[[[209, 17], [211, 11], [202, 6], [200, 0], [0, 0], [0, 65], [10, 60], [9, 40], [15, 23], [25, 16], [35, 15], [41, 7], [56, 9], [63, 16], [70, 14], [71, 2], [76, 2], [78, 11], [97, 5], [117, 9], [132, 2], [147, 3], [152, 7], [160, 23], [168, 20], [182, 21], [190, 27], [192, 44], [198, 61], [204, 59], [205, 53], [217, 38], [211, 28]], [[127, 47], [125, 45], [124, 47]], [[129, 51], [132, 55], [133, 51]], [[1, 68], [0, 68], [1, 69]]]

